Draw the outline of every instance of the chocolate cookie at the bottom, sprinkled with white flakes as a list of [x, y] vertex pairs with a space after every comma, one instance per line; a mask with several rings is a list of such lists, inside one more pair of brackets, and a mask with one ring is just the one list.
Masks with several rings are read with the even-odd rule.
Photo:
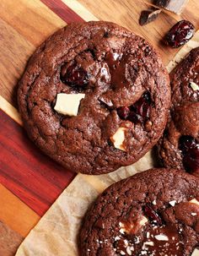
[[87, 212], [79, 236], [81, 256], [190, 256], [197, 246], [199, 179], [174, 169], [111, 185]]

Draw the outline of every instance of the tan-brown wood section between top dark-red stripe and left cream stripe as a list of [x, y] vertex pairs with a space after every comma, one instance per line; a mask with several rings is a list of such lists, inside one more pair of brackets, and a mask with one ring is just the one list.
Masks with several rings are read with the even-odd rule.
[[66, 23], [39, 0], [1, 0], [0, 95], [13, 106], [17, 106], [16, 84], [35, 47], [64, 25]]

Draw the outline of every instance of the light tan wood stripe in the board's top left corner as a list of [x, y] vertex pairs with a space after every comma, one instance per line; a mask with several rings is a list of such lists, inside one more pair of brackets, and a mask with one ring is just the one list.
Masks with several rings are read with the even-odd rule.
[[40, 0], [1, 0], [0, 14], [1, 19], [33, 46], [39, 46], [48, 35], [66, 25]]

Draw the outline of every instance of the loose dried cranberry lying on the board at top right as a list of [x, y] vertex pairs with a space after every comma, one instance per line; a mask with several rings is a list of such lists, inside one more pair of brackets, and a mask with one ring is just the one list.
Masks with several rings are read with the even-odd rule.
[[187, 20], [180, 20], [165, 35], [165, 42], [173, 48], [183, 46], [195, 32], [194, 25]]

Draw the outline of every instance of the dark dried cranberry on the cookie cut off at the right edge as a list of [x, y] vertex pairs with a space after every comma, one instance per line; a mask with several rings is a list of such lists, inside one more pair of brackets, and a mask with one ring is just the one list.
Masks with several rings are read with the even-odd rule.
[[199, 143], [192, 136], [180, 137], [179, 149], [183, 155], [183, 166], [187, 172], [199, 172]]

